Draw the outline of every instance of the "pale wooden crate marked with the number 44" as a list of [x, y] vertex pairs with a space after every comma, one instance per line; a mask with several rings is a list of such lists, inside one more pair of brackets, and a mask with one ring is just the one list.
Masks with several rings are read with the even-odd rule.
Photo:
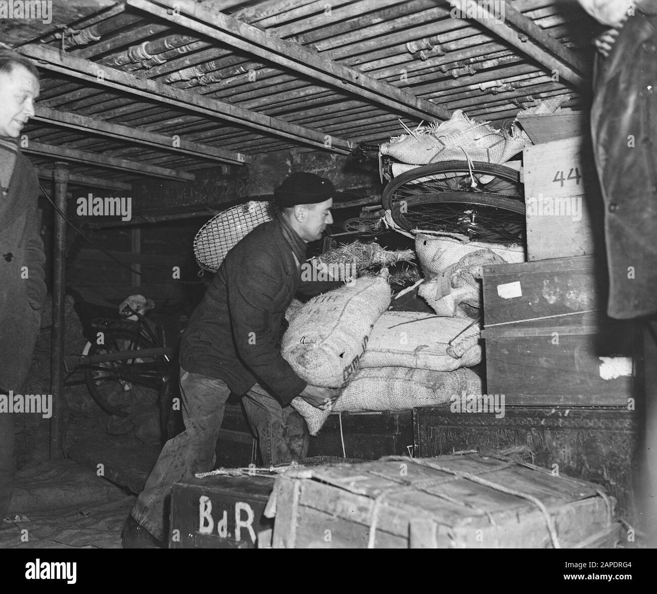
[[523, 151], [528, 260], [604, 253], [604, 209], [587, 136]]

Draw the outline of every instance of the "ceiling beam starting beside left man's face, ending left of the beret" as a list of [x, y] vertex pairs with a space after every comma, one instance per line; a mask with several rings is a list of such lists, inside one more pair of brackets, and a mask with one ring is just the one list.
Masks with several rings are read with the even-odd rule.
[[253, 161], [250, 156], [242, 154], [241, 152], [217, 149], [217, 147], [212, 147], [210, 145], [186, 141], [183, 138], [179, 138], [174, 142], [175, 139], [168, 135], [158, 134], [130, 126], [110, 124], [103, 120], [80, 116], [71, 112], [62, 112], [38, 104], [36, 106], [36, 114], [32, 119], [39, 122], [46, 122], [47, 124], [57, 124], [58, 126], [108, 136], [130, 143], [148, 145], [150, 147], [157, 147], [158, 149], [167, 151], [182, 152], [189, 156], [202, 157], [224, 163], [242, 165]]

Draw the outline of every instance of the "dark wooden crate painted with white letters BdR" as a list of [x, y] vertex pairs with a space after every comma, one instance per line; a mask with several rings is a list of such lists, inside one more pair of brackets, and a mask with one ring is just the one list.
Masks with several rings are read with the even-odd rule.
[[267, 541], [271, 530], [263, 511], [273, 484], [269, 476], [208, 476], [174, 484], [169, 547], [256, 548], [258, 535]]

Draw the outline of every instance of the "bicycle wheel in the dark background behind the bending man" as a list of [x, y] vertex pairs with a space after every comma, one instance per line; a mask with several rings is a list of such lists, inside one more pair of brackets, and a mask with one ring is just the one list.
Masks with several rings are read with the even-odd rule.
[[[87, 343], [85, 355], [116, 354], [155, 345], [145, 336], [108, 330], [104, 344]], [[127, 417], [137, 403], [156, 403], [162, 388], [162, 357], [124, 357], [114, 361], [90, 363], [84, 376], [93, 400], [106, 412]], [[166, 363], [168, 365], [168, 363]]]

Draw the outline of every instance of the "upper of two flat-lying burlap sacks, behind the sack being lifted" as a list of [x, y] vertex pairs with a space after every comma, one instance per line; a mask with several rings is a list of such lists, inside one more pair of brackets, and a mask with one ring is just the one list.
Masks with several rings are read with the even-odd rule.
[[467, 328], [470, 323], [468, 319], [431, 317], [415, 311], [386, 311], [374, 323], [361, 368], [453, 371], [477, 365], [482, 360], [481, 327], [475, 324]]

